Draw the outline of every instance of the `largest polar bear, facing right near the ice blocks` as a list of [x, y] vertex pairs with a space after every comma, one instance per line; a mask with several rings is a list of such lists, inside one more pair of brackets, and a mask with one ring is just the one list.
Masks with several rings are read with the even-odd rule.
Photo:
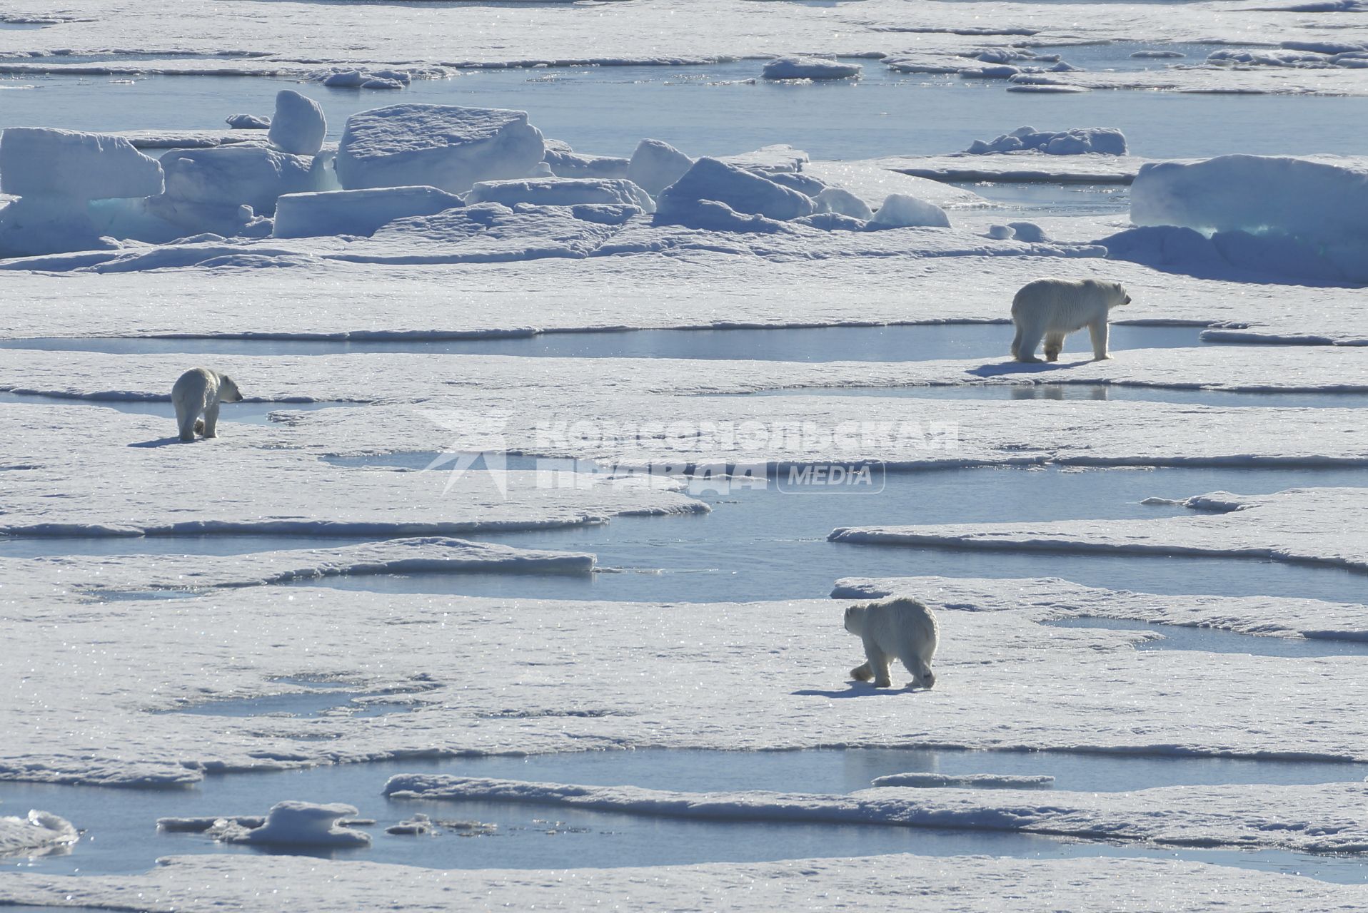
[[1045, 339], [1045, 361], [1059, 361], [1064, 336], [1088, 327], [1093, 336], [1093, 358], [1111, 358], [1107, 353], [1107, 318], [1112, 308], [1130, 303], [1119, 282], [1101, 279], [1037, 279], [1026, 283], [1012, 298], [1012, 358], [1040, 361], [1036, 346]]

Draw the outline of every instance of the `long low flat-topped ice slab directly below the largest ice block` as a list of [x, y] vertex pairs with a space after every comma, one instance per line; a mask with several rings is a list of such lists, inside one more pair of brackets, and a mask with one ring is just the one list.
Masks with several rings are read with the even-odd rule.
[[371, 235], [406, 216], [431, 216], [465, 204], [436, 187], [375, 187], [286, 194], [276, 200], [276, 238]]

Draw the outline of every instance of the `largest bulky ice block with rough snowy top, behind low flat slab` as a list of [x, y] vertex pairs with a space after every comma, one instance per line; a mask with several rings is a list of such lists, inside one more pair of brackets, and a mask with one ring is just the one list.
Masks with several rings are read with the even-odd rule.
[[406, 104], [347, 118], [337, 174], [346, 190], [428, 185], [465, 193], [521, 178], [546, 154], [527, 112]]

